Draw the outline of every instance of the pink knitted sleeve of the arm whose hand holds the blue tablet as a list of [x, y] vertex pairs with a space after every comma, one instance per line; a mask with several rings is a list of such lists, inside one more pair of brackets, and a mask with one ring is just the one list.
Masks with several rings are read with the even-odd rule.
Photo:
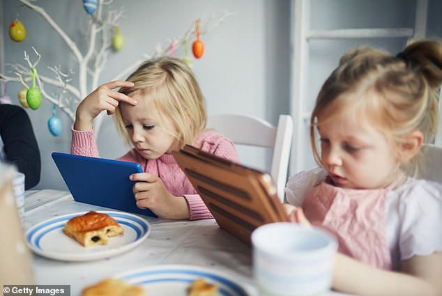
[[[234, 143], [221, 135], [220, 138], [221, 139], [218, 139], [216, 143], [213, 143], [212, 141], [204, 141], [201, 144], [201, 150], [225, 159], [229, 159], [232, 162], [239, 162], [238, 153], [236, 153]], [[213, 215], [208, 210], [206, 204], [204, 201], [202, 201], [199, 194], [185, 194], [184, 198], [186, 201], [188, 201], [190, 220], [213, 218]]]

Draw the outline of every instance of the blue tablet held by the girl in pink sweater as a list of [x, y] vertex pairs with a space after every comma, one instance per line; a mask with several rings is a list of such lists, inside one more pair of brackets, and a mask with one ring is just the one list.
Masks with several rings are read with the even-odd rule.
[[157, 217], [136, 205], [129, 176], [143, 172], [140, 164], [58, 152], [52, 159], [75, 201]]

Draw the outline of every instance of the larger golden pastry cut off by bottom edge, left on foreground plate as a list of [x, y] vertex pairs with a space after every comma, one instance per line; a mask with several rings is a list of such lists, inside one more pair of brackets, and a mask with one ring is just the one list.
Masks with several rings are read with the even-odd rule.
[[146, 296], [140, 286], [119, 279], [103, 279], [82, 290], [82, 296]]

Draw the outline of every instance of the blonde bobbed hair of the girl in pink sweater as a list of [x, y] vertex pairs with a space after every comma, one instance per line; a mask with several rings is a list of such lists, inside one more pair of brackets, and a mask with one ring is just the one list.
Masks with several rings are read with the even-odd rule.
[[[173, 129], [166, 132], [172, 134], [181, 147], [195, 144], [206, 128], [206, 103], [197, 79], [186, 63], [170, 56], [151, 59], [126, 80], [133, 82], [134, 86], [121, 88], [120, 93], [130, 95], [142, 91], [146, 98], [153, 100], [160, 118], [172, 121]], [[130, 145], [120, 107], [116, 108], [114, 120], [119, 134]]]

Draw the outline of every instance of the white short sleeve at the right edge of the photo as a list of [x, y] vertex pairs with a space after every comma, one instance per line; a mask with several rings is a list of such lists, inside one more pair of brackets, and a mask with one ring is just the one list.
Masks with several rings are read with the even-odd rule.
[[401, 260], [442, 251], [442, 185], [418, 180], [399, 201]]

